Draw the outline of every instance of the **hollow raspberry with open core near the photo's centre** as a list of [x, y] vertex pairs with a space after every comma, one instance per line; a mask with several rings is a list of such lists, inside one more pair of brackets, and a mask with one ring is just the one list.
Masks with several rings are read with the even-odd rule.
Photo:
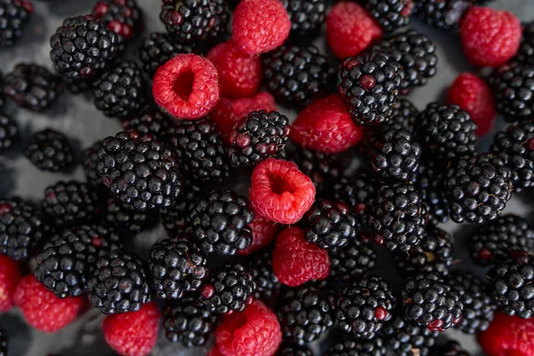
[[248, 193], [255, 211], [277, 223], [296, 223], [315, 200], [312, 180], [292, 162], [267, 158], [252, 173]]

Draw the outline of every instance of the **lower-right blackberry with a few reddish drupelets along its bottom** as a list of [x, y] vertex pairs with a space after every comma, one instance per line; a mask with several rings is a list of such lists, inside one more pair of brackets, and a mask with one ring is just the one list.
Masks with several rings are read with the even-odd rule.
[[433, 331], [445, 331], [462, 320], [464, 302], [460, 294], [436, 272], [404, 280], [401, 301], [406, 320]]

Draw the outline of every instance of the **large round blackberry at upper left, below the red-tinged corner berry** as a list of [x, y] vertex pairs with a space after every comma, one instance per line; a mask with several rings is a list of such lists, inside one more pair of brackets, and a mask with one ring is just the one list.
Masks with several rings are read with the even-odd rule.
[[118, 54], [115, 32], [92, 15], [63, 21], [50, 38], [54, 68], [76, 82], [99, 77]]

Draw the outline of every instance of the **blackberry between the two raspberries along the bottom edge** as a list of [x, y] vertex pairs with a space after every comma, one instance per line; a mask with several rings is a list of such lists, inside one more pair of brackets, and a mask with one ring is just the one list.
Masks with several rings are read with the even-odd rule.
[[184, 296], [163, 308], [166, 338], [186, 347], [201, 346], [209, 341], [217, 320], [214, 312], [199, 303], [196, 296]]

